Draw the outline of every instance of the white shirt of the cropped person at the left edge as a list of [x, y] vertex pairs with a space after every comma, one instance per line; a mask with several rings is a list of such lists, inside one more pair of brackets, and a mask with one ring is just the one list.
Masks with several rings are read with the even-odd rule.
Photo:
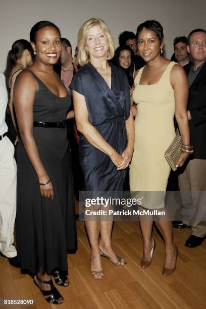
[[8, 94], [4, 74], [0, 73], [0, 136], [8, 131], [5, 122]]

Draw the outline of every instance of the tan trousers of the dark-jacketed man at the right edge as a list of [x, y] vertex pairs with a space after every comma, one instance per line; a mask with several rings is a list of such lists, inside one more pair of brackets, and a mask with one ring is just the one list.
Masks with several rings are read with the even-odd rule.
[[190, 225], [192, 235], [206, 235], [206, 160], [189, 160], [179, 175], [183, 209], [182, 222]]

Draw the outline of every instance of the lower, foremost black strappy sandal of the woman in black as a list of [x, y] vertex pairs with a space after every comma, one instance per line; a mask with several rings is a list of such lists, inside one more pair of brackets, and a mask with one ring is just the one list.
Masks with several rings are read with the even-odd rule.
[[[45, 283], [45, 284], [49, 284], [51, 289], [50, 291], [44, 291], [40, 288], [40, 286], [36, 283], [36, 280], [38, 280], [40, 283]], [[61, 304], [63, 302], [60, 302], [60, 298], [63, 298], [62, 295], [59, 293], [59, 291], [56, 289], [56, 287], [53, 285], [52, 280], [49, 281], [43, 281], [41, 280], [37, 275], [34, 276], [34, 283], [35, 285], [39, 288], [39, 290], [41, 291], [41, 293], [43, 294], [43, 296], [48, 296], [48, 297], [44, 297], [45, 300], [49, 303], [54, 303], [54, 304]]]

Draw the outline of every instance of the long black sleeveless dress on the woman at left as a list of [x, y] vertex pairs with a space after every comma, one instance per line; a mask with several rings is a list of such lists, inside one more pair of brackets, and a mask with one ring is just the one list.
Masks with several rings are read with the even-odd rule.
[[[66, 119], [70, 96], [59, 97], [37, 80], [33, 121]], [[23, 73], [20, 73], [23, 74]], [[33, 128], [41, 162], [52, 179], [54, 200], [41, 197], [37, 175], [23, 143], [17, 146], [17, 250], [21, 268], [35, 274], [67, 271], [67, 250], [77, 249], [71, 156], [67, 128]]]

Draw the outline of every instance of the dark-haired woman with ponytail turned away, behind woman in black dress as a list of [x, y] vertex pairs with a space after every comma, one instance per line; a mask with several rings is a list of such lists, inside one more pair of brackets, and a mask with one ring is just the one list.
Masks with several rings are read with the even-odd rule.
[[16, 138], [14, 144], [18, 141], [18, 129], [14, 115], [13, 89], [18, 74], [33, 63], [33, 49], [31, 43], [27, 40], [20, 39], [13, 43], [12, 49], [7, 56], [7, 66], [4, 72], [6, 84], [9, 93], [9, 110], [14, 128], [16, 130]]

